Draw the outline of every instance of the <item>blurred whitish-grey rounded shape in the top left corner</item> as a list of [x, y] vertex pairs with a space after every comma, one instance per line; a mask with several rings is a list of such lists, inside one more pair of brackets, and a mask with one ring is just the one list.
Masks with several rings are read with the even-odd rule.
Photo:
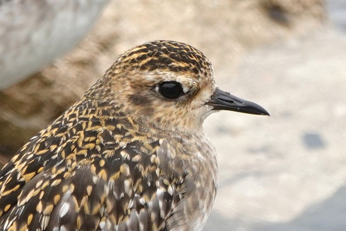
[[74, 48], [108, 0], [0, 0], [0, 90]]

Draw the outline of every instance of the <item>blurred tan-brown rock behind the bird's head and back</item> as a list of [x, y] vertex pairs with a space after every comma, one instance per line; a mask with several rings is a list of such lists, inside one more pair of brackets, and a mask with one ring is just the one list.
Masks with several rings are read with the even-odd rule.
[[137, 44], [188, 43], [209, 57], [217, 73], [221, 66], [235, 67], [251, 47], [301, 35], [324, 21], [323, 0], [114, 0], [78, 48], [0, 92], [0, 146], [20, 148], [73, 104], [118, 54]]

